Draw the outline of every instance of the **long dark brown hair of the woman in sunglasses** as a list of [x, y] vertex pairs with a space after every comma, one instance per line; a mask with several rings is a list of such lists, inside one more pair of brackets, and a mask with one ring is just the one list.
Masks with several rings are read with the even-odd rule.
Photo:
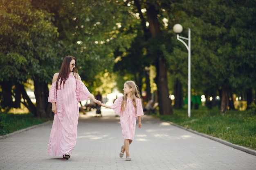
[[60, 88], [61, 88], [62, 82], [63, 82], [63, 87], [64, 87], [65, 81], [67, 80], [67, 77], [70, 74], [70, 62], [73, 59], [75, 60], [75, 67], [72, 72], [73, 72], [73, 74], [76, 73], [76, 74], [74, 74], [74, 76], [76, 76], [76, 78], [77, 78], [78, 71], [77, 71], [77, 65], [76, 65], [76, 58], [68, 55], [68, 56], [64, 57], [64, 59], [62, 61], [61, 70], [58, 74], [58, 78], [57, 78], [57, 82], [56, 82], [56, 89], [58, 89], [58, 81], [60, 79], [61, 79]]

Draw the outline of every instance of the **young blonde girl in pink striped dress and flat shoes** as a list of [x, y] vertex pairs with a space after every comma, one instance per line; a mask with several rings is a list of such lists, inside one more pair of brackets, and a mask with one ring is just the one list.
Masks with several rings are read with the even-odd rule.
[[129, 146], [134, 139], [136, 118], [141, 128], [141, 116], [144, 115], [140, 95], [134, 81], [124, 83], [124, 96], [117, 98], [113, 105], [108, 106], [100, 103], [101, 106], [113, 109], [120, 115], [121, 129], [124, 137], [124, 145], [121, 146], [120, 157], [126, 151], [126, 161], [131, 161]]

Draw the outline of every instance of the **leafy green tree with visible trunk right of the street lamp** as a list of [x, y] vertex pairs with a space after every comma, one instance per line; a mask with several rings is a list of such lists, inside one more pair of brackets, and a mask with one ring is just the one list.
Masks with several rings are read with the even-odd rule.
[[[252, 69], [255, 50], [247, 47], [255, 44], [254, 39], [248, 38], [255, 35], [255, 26], [251, 24], [254, 22], [255, 2], [186, 0], [179, 5], [182, 11], [186, 11], [189, 20], [184, 23], [189, 23], [193, 33], [191, 63], [192, 72], [197, 73], [193, 74], [194, 87], [206, 93], [212, 89], [215, 92], [211, 93], [220, 91], [220, 110], [224, 113], [231, 97], [229, 94], [244, 91], [244, 87], [254, 87], [254, 79], [249, 74], [255, 75]], [[200, 74], [196, 70], [200, 70]]]

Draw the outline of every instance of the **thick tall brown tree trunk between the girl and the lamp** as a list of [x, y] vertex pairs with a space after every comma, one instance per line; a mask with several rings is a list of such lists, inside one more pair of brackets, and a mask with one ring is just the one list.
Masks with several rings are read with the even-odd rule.
[[[157, 11], [154, 5], [149, 4], [147, 8], [147, 16], [150, 33], [153, 37], [157, 38], [157, 36], [160, 33], [160, 27], [159, 22], [157, 20]], [[171, 115], [173, 114], [173, 110], [171, 107], [171, 100], [169, 98], [167, 70], [163, 54], [159, 54], [159, 57], [156, 59], [155, 63], [157, 71], [155, 83], [157, 84], [159, 113], [160, 115]]]

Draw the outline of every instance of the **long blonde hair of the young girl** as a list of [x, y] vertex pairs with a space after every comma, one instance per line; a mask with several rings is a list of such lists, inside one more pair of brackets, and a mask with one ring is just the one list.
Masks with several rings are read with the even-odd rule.
[[[140, 99], [140, 94], [139, 94], [139, 88], [138, 86], [135, 84], [134, 81], [126, 81], [124, 83], [125, 85], [128, 85], [128, 87], [132, 88], [131, 91], [131, 98], [132, 98], [132, 103], [133, 103], [133, 107], [135, 110], [135, 113], [137, 112], [137, 105], [136, 105], [136, 98]], [[123, 101], [121, 104], [121, 112], [123, 113], [125, 108], [126, 108], [126, 102], [127, 102], [127, 94], [124, 94], [123, 96]]]

